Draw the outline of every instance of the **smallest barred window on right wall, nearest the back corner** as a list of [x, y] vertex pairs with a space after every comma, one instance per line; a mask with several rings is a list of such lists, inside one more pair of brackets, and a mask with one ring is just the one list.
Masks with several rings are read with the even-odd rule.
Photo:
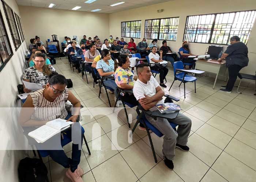
[[141, 20], [121, 22], [122, 37], [140, 38], [140, 34], [141, 34]]

